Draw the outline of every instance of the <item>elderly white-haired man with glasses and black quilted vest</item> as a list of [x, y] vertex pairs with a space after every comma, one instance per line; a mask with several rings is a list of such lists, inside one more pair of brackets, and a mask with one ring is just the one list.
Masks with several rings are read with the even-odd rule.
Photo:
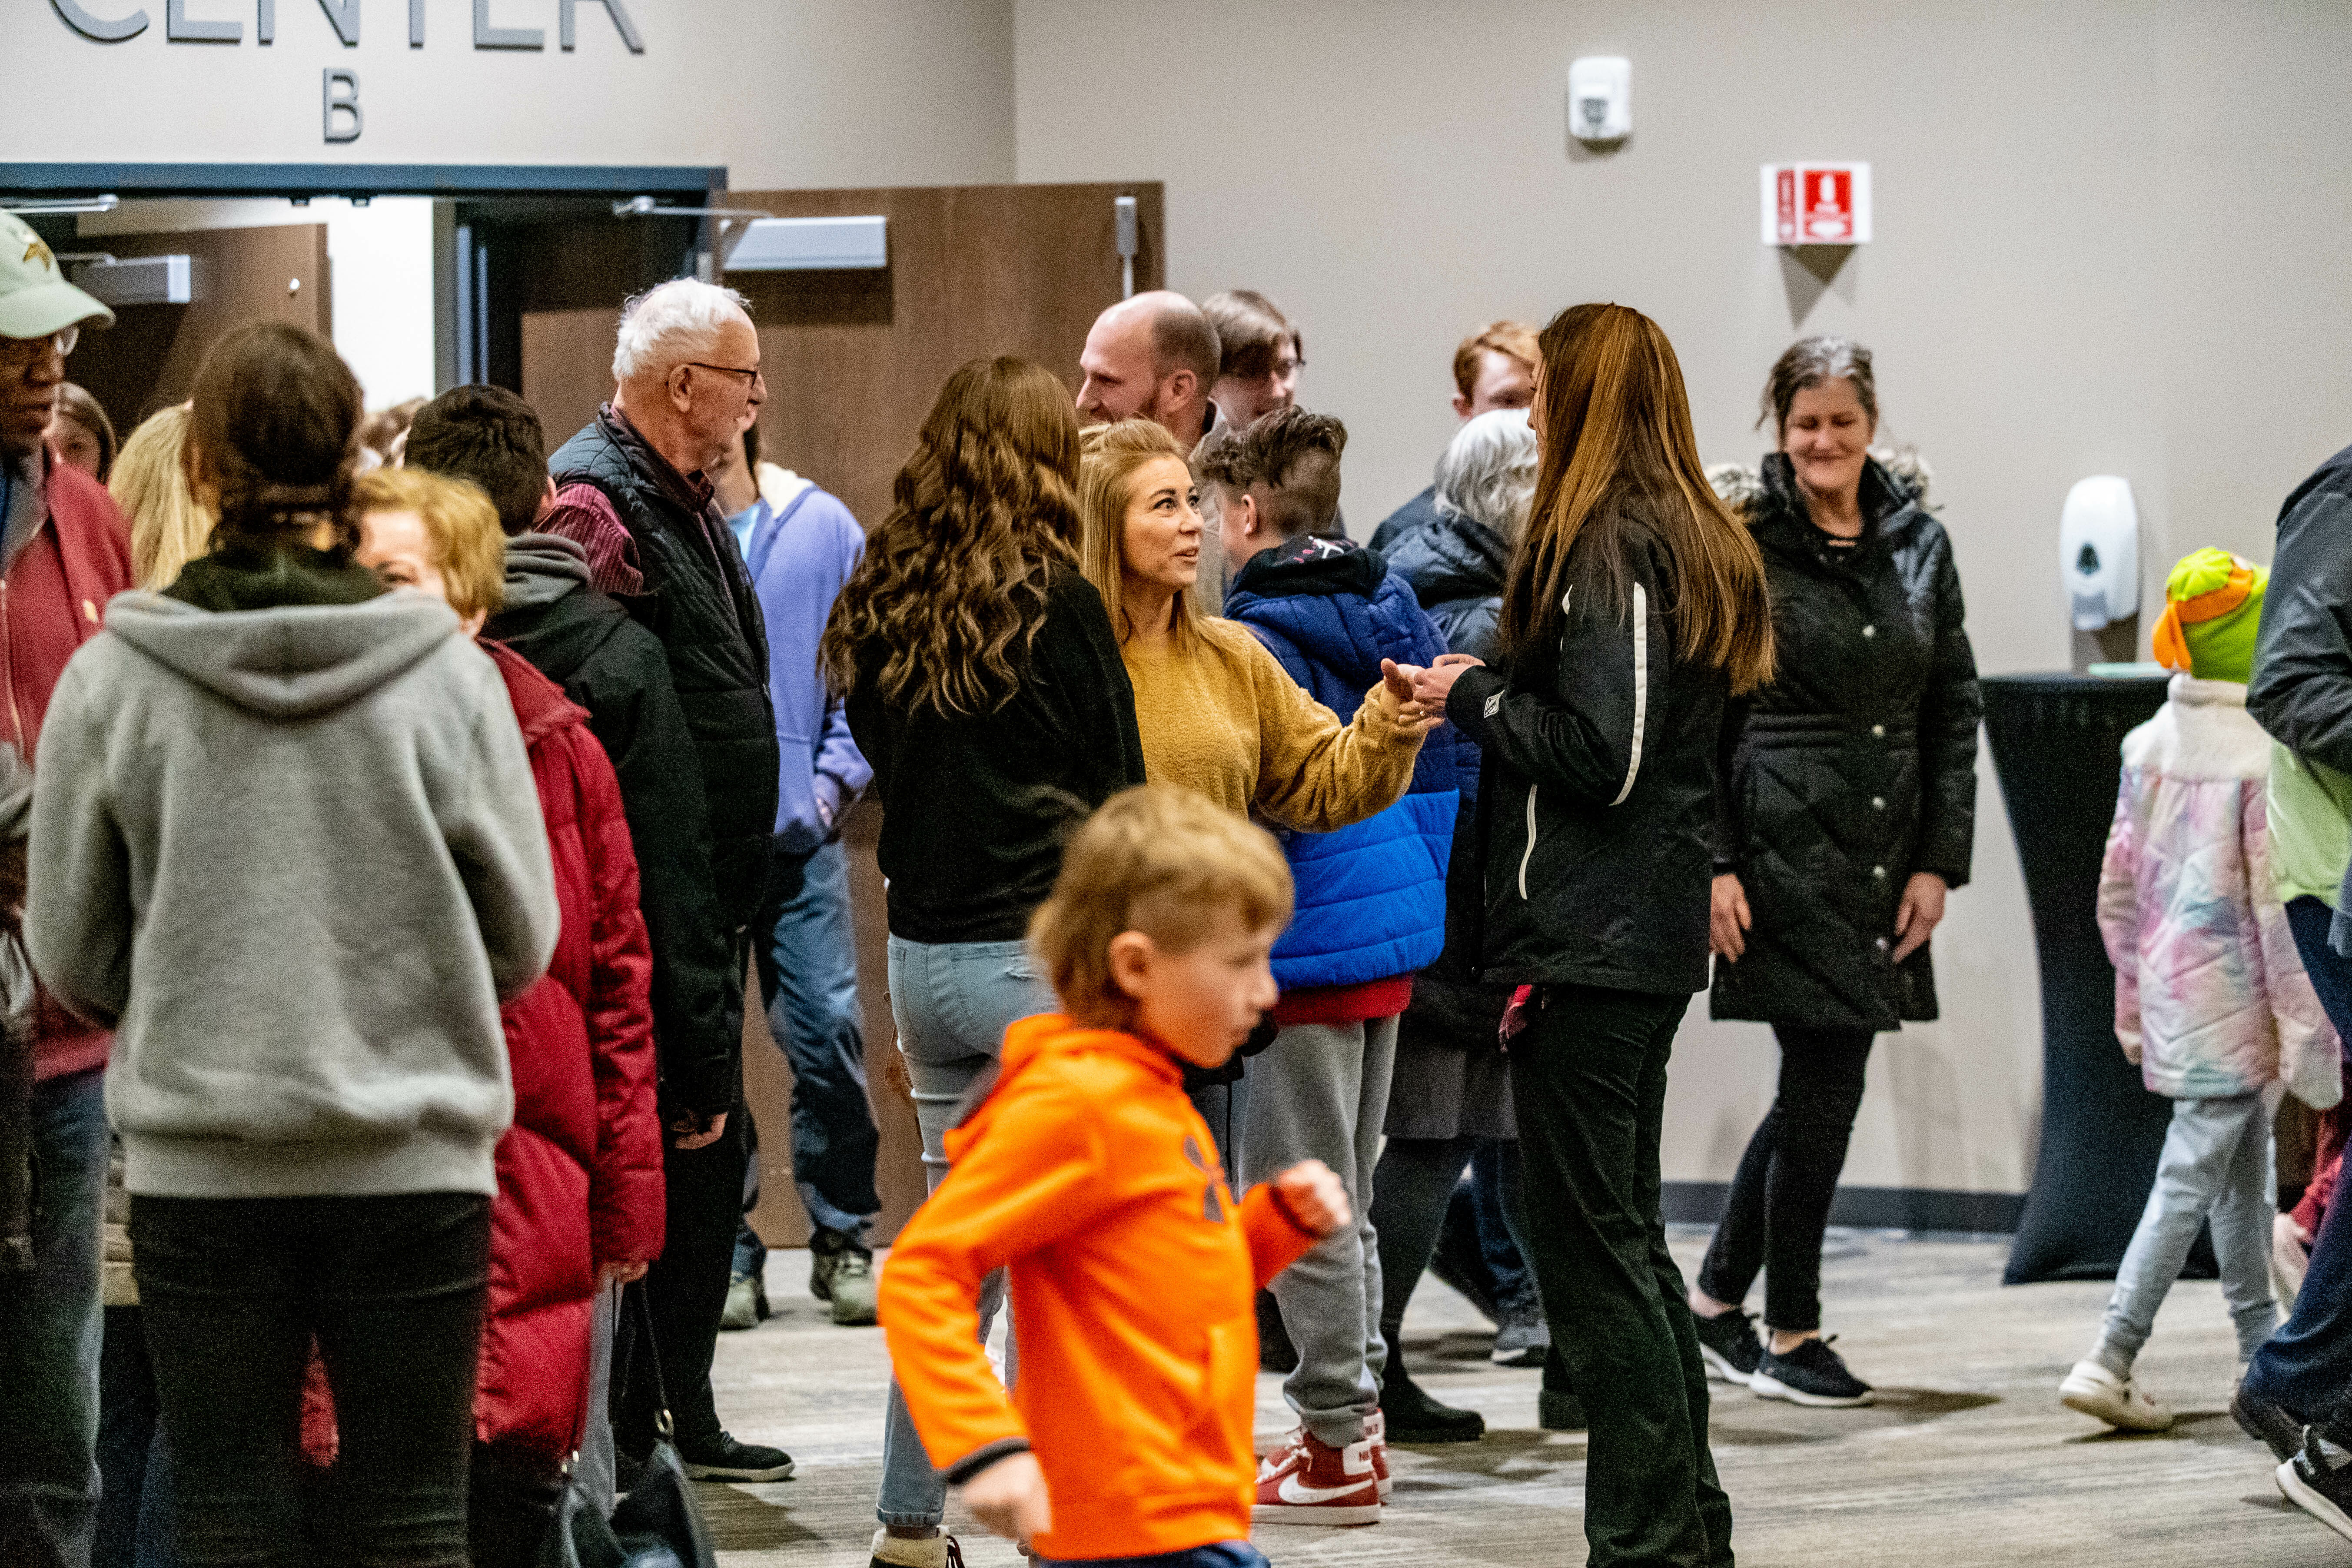
[[[574, 541], [590, 583], [661, 637], [691, 741], [675, 766], [701, 780], [708, 802], [703, 853], [649, 867], [699, 884], [708, 940], [694, 945], [703, 954], [694, 973], [663, 973], [656, 952], [656, 1004], [670, 983], [691, 997], [684, 1023], [659, 1041], [668, 1241], [644, 1293], [687, 1474], [781, 1481], [793, 1460], [734, 1441], [710, 1399], [743, 1211], [743, 961], [776, 827], [776, 719], [760, 599], [703, 470], [743, 437], [767, 395], [760, 334], [741, 294], [682, 277], [623, 306], [612, 374], [612, 402], [548, 461], [555, 503], [539, 527]], [[644, 1401], [623, 1401], [619, 1446], [635, 1455], [652, 1446]]]

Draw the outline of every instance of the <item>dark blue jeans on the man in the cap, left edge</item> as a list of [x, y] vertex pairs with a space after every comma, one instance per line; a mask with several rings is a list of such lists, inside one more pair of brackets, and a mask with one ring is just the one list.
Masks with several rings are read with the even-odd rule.
[[0, 1563], [87, 1563], [99, 1516], [106, 1072], [33, 1086], [33, 1272], [0, 1276]]

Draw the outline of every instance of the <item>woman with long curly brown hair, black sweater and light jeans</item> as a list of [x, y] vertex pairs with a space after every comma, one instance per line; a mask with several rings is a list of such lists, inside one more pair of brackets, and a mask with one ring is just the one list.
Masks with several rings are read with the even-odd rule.
[[[1028, 360], [971, 360], [941, 388], [818, 644], [882, 799], [891, 1018], [931, 1185], [1004, 1027], [1054, 1011], [1023, 933], [1063, 835], [1143, 783], [1134, 696], [1077, 538], [1070, 393]], [[993, 1279], [983, 1333], [1002, 1300]], [[891, 1387], [873, 1561], [943, 1568], [946, 1500]]]

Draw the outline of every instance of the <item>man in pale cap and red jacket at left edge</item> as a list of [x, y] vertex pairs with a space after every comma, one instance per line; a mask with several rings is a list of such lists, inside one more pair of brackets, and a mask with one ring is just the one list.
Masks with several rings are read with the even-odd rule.
[[[85, 324], [113, 310], [66, 282], [47, 242], [0, 212], [0, 743], [26, 762], [66, 661], [132, 585], [129, 531], [106, 489], [45, 430]], [[0, 858], [0, 900], [21, 896]], [[7, 910], [14, 924], [14, 907]], [[0, 1239], [0, 1563], [89, 1563], [99, 1505], [99, 1211], [108, 1037], [47, 994], [33, 1016], [31, 1098], [0, 1098], [0, 1194], [40, 1171], [21, 1237]], [[24, 1051], [0, 1039], [0, 1051]], [[24, 1084], [21, 1072], [0, 1081]], [[14, 1190], [14, 1192], [12, 1192]], [[0, 1201], [0, 1215], [19, 1204]]]

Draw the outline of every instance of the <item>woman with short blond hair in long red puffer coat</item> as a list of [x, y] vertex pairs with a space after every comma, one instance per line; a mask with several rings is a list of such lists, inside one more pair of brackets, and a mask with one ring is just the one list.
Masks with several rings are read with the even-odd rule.
[[[393, 588], [449, 599], [480, 630], [496, 609], [506, 538], [470, 484], [374, 470], [358, 487], [362, 550]], [[489, 1321], [473, 1399], [477, 1566], [532, 1561], [546, 1493], [581, 1443], [590, 1326], [607, 1279], [661, 1253], [661, 1119], [654, 1107], [652, 957], [621, 785], [588, 715], [520, 654], [485, 642], [506, 677], [555, 860], [562, 936], [548, 973], [501, 1009], [515, 1124], [499, 1140], [489, 1211]]]

